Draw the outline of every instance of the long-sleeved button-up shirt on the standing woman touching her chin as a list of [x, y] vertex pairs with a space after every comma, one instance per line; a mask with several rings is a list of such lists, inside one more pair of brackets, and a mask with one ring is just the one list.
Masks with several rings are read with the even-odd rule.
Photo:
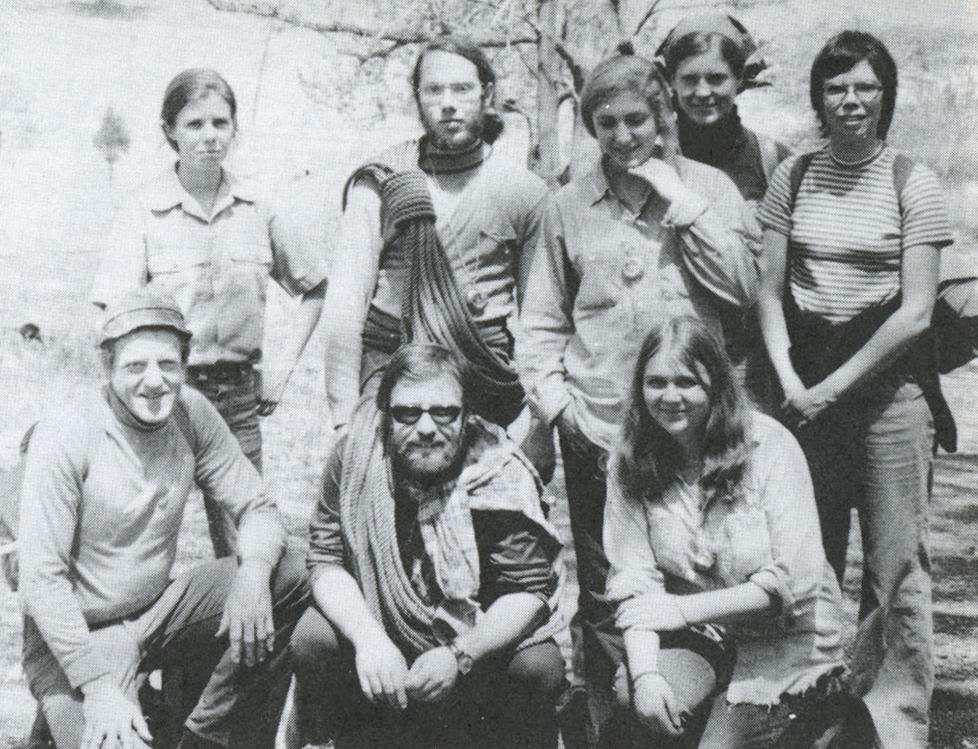
[[677, 162], [701, 206], [669, 206], [653, 193], [634, 213], [598, 164], [553, 196], [530, 269], [517, 336], [523, 386], [544, 418], [570, 408], [606, 449], [652, 326], [693, 315], [719, 333], [718, 299], [741, 308], [756, 299], [757, 262], [745, 243], [756, 224], [743, 198], [719, 170]]

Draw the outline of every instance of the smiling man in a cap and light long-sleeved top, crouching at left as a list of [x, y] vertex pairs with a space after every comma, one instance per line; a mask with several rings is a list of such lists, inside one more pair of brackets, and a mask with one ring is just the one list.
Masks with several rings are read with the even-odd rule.
[[[301, 556], [285, 554], [275, 502], [227, 425], [183, 387], [189, 340], [172, 298], [124, 295], [100, 337], [107, 385], [52, 411], [31, 437], [23, 667], [58, 749], [147, 746], [136, 689], [162, 668], [166, 693], [168, 664], [189, 666], [189, 703], [168, 705], [171, 722], [186, 717], [181, 747], [261, 741], [237, 717], [232, 736], [232, 713], [275, 730], [268, 684], [287, 684], [279, 654], [307, 597]], [[240, 551], [171, 579], [195, 482], [234, 518]]]

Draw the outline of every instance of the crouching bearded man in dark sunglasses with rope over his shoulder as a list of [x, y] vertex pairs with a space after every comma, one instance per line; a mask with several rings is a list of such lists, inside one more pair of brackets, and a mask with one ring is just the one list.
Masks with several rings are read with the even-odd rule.
[[292, 638], [307, 741], [556, 747], [560, 542], [463, 381], [448, 349], [402, 346], [337, 440]]

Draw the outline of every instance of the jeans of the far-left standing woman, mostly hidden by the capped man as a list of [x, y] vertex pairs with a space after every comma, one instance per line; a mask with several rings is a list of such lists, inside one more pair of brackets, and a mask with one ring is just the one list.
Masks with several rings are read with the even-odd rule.
[[[189, 380], [196, 390], [209, 400], [221, 418], [231, 428], [245, 457], [259, 470], [262, 469], [261, 427], [258, 424], [259, 375], [256, 370], [230, 382], [193, 378]], [[238, 533], [234, 521], [219, 504], [204, 497], [204, 510], [210, 529], [214, 556], [233, 555], [238, 548]]]

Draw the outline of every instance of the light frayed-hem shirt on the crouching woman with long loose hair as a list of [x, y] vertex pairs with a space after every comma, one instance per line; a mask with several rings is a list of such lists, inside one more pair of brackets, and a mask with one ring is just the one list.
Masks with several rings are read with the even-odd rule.
[[607, 595], [622, 613], [649, 593], [745, 582], [763, 588], [775, 601], [773, 613], [729, 625], [737, 662], [727, 701], [771, 705], [842, 664], [842, 597], [825, 560], [801, 447], [760, 413], [752, 415], [749, 435], [753, 450], [732, 500], [704, 506], [699, 487], [678, 479], [661, 497], [635, 499], [609, 477]]

